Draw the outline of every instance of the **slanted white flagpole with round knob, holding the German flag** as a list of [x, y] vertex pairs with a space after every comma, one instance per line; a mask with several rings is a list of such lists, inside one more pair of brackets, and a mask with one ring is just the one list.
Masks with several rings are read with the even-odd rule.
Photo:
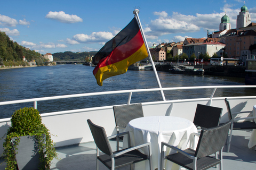
[[[140, 23], [140, 18], [139, 18], [139, 15], [138, 15], [139, 12], [140, 12], [140, 10], [135, 9], [135, 10], [133, 11], [133, 14], [136, 16], [135, 18], [136, 18], [136, 20], [137, 20], [137, 22], [138, 22], [138, 25], [139, 25], [139, 27], [140, 27], [140, 31], [141, 31], [141, 34], [142, 34], [142, 38], [143, 38], [144, 43], [145, 43], [146, 48], [147, 48], [148, 56], [149, 56], [150, 62], [151, 62], [151, 64], [152, 64], [152, 68], [153, 68], [153, 70], [154, 70], [154, 73], [155, 73], [155, 77], [156, 77], [156, 81], [157, 81], [157, 83], [158, 83], [158, 87], [159, 87], [159, 88], [162, 88], [161, 83], [160, 83], [160, 80], [159, 80], [159, 78], [158, 78], [158, 74], [157, 74], [157, 71], [156, 71], [156, 67], [155, 67], [154, 61], [153, 61], [153, 59], [152, 59], [151, 53], [150, 53], [149, 48], [148, 48], [148, 43], [147, 43], [146, 37], [145, 37], [145, 35], [144, 35], [143, 29], [142, 29], [142, 26], [141, 26], [141, 23]], [[161, 90], [161, 95], [162, 95], [163, 100], [165, 101], [165, 96], [164, 96], [163, 90]]]

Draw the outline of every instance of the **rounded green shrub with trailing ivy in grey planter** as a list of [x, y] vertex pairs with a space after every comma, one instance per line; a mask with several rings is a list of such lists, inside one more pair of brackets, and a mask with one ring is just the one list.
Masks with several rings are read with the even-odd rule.
[[[27, 141], [21, 142], [23, 139]], [[34, 143], [31, 144], [31, 141]], [[21, 149], [19, 148], [19, 143]], [[55, 145], [49, 130], [42, 123], [39, 112], [33, 107], [19, 109], [12, 115], [11, 126], [3, 143], [3, 157], [7, 163], [5, 169], [17, 169], [17, 155], [21, 154], [22, 159], [24, 159], [26, 155], [24, 152], [29, 150], [25, 149], [26, 144], [29, 145], [30, 152], [34, 152], [32, 154], [33, 157], [38, 157], [33, 159], [31, 155], [28, 156], [28, 158], [30, 157], [29, 159], [33, 160], [30, 162], [38, 162], [38, 169], [50, 169], [51, 160], [54, 157], [57, 158]]]

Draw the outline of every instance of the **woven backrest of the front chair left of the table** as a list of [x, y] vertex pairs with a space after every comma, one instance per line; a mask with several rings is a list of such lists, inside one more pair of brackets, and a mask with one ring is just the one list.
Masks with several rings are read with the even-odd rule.
[[107, 138], [106, 131], [103, 127], [95, 125], [90, 119], [87, 120], [92, 132], [92, 136], [96, 146], [105, 154], [112, 155], [113, 151]]

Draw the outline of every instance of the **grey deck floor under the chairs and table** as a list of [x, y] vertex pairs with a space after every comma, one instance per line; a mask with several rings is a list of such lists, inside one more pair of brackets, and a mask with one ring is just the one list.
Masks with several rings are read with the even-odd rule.
[[[251, 137], [251, 130], [234, 130], [230, 146], [230, 152], [223, 149], [223, 169], [255, 169], [256, 151], [255, 146], [251, 149], [247, 147]], [[115, 148], [115, 141], [110, 141]], [[82, 143], [81, 145], [57, 148], [59, 159], [53, 159], [51, 169], [61, 170], [81, 170], [96, 168], [96, 146], [94, 142]], [[1, 160], [3, 162], [3, 160]], [[100, 169], [107, 169], [99, 163]], [[5, 163], [0, 165], [0, 170], [5, 168]], [[119, 169], [130, 169], [124, 167]], [[216, 169], [215, 167], [210, 169]]]

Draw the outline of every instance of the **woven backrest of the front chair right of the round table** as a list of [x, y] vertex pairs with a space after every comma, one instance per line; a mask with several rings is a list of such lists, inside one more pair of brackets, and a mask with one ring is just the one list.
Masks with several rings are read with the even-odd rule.
[[230, 124], [231, 122], [229, 121], [214, 128], [203, 129], [196, 147], [195, 156], [201, 158], [220, 151], [225, 145]]

